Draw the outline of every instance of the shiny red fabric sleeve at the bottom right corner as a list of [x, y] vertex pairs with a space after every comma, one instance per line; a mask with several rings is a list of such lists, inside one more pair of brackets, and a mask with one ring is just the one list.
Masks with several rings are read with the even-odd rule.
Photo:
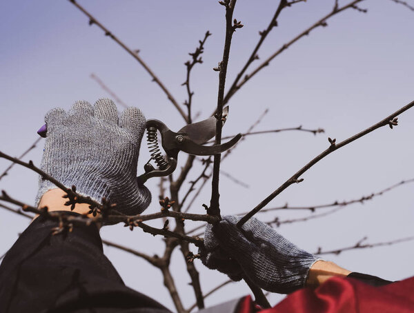
[[[246, 297], [239, 313], [253, 313]], [[250, 299], [251, 301], [251, 299]], [[260, 313], [413, 313], [414, 277], [374, 287], [351, 278], [333, 277], [312, 290], [304, 288]]]

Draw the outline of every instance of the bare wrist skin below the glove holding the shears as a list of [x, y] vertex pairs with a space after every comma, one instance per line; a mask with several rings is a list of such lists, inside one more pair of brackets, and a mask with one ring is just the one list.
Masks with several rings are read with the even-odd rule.
[[88, 217], [93, 217], [92, 214], [88, 214], [90, 209], [87, 203], [76, 203], [75, 208], [73, 210], [70, 210], [70, 205], [65, 205], [66, 201], [68, 201], [68, 199], [63, 198], [65, 194], [66, 192], [59, 188], [45, 192], [45, 194], [43, 194], [43, 196], [40, 199], [38, 208], [48, 207], [49, 212], [69, 211], [86, 215]]

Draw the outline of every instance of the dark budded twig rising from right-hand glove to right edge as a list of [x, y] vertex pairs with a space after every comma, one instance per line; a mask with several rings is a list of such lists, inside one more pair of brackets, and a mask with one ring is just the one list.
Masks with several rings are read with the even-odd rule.
[[316, 156], [314, 159], [312, 159], [303, 168], [301, 168], [292, 177], [290, 177], [290, 179], [285, 181], [279, 188], [277, 188], [277, 190], [272, 192], [269, 196], [266, 197], [266, 199], [264, 199], [262, 202], [260, 202], [253, 210], [251, 210], [250, 212], [248, 212], [248, 214], [243, 216], [242, 219], [240, 219], [240, 221], [237, 223], [237, 226], [239, 228], [242, 227], [242, 225], [244, 223], [246, 223], [246, 221], [248, 221], [248, 219], [250, 219], [250, 217], [252, 217], [257, 212], [259, 212], [259, 210], [262, 210], [262, 208], [264, 208], [265, 205], [267, 205], [270, 201], [275, 199], [275, 197], [278, 194], [280, 194], [282, 191], [284, 191], [290, 185], [292, 185], [293, 183], [300, 183], [301, 181], [303, 181], [303, 179], [299, 179], [299, 177], [302, 176], [302, 174], [304, 174], [304, 172], [309, 170], [317, 162], [324, 159], [325, 156], [327, 156], [328, 154], [331, 154], [331, 152], [334, 152], [334, 151], [338, 150], [339, 148], [344, 147], [344, 145], [347, 145], [348, 143], [351, 143], [351, 142], [353, 142], [353, 141], [355, 141], [355, 140], [357, 140], [361, 137], [364, 137], [366, 134], [369, 134], [370, 132], [373, 132], [374, 130], [377, 130], [378, 128], [381, 128], [385, 125], [389, 125], [390, 128], [393, 128], [393, 126], [397, 125], [397, 123], [398, 123], [397, 122], [397, 116], [402, 114], [406, 110], [412, 108], [413, 106], [414, 106], [414, 101], [411, 101], [411, 103], [408, 103], [407, 105], [404, 105], [404, 107], [400, 108], [400, 110], [395, 111], [393, 114], [389, 115], [388, 117], [386, 117], [382, 121], [372, 125], [369, 128], [366, 128], [366, 130], [363, 130], [362, 132], [359, 132], [358, 134], [355, 134], [352, 137], [349, 137], [348, 139], [345, 139], [344, 141], [342, 141], [340, 143], [336, 143], [335, 139], [328, 138], [328, 140], [331, 143], [331, 145], [329, 146], [328, 149], [326, 149], [324, 152], [322, 152], [321, 154]]

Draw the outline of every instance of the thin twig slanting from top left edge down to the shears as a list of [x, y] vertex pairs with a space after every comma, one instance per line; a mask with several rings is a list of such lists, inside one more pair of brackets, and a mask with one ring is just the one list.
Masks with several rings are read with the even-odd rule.
[[164, 85], [164, 83], [161, 83], [161, 81], [159, 80], [159, 78], [157, 77], [157, 75], [155, 75], [155, 73], [152, 72], [152, 70], [143, 61], [143, 59], [141, 59], [141, 57], [139, 57], [137, 51], [132, 51], [130, 48], [128, 48], [128, 46], [126, 46], [125, 43], [123, 43], [121, 40], [119, 40], [118, 37], [115, 37], [115, 35], [112, 34], [112, 32], [110, 32], [110, 30], [108, 30], [108, 28], [106, 28], [99, 21], [97, 21], [97, 19], [95, 19], [95, 17], [92, 17], [92, 14], [90, 14], [85, 8], [83, 8], [82, 6], [80, 6], [79, 3], [77, 3], [75, 0], [69, 0], [69, 1], [71, 3], [73, 3], [74, 6], [76, 6], [79, 10], [81, 10], [81, 12], [83, 12], [83, 14], [85, 14], [89, 18], [89, 25], [95, 24], [99, 28], [101, 28], [101, 30], [103, 30], [103, 32], [105, 33], [105, 36], [108, 36], [111, 39], [113, 39], [116, 43], [119, 44], [119, 46], [121, 46], [122, 48], [124, 48], [124, 50], [126, 50], [126, 52], [128, 52], [135, 60], [137, 60], [139, 62], [139, 64], [142, 65], [142, 67], [152, 77], [152, 81], [155, 81], [155, 83], [157, 83], [157, 85], [159, 85], [159, 87], [164, 91], [164, 93], [167, 95], [167, 98], [171, 101], [172, 105], [174, 105], [175, 108], [178, 110], [179, 114], [181, 114], [181, 117], [183, 117], [183, 119], [186, 122], [188, 122], [187, 121], [187, 117], [186, 117], [186, 113], [184, 113], [184, 110], [181, 109], [181, 107], [179, 106], [179, 104], [177, 103], [177, 101], [174, 99], [174, 97], [172, 97], [172, 94], [167, 90], [167, 88]]

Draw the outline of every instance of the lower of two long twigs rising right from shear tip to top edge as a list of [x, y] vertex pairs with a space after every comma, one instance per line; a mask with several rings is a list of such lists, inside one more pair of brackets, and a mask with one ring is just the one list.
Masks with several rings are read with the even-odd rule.
[[247, 83], [253, 76], [255, 76], [255, 74], [257, 74], [257, 72], [259, 72], [260, 70], [262, 70], [263, 68], [265, 68], [266, 66], [268, 66], [270, 64], [270, 61], [272, 61], [273, 59], [275, 59], [275, 57], [277, 57], [279, 54], [281, 54], [282, 52], [284, 52], [284, 50], [286, 50], [287, 48], [289, 48], [290, 46], [293, 45], [293, 43], [295, 43], [296, 41], [298, 41], [299, 39], [301, 39], [302, 37], [307, 36], [312, 30], [314, 30], [315, 28], [318, 28], [319, 26], [322, 27], [326, 27], [328, 26], [328, 24], [326, 23], [326, 21], [333, 17], [335, 14], [338, 14], [339, 12], [342, 12], [346, 9], [349, 8], [353, 8], [355, 9], [355, 5], [361, 1], [364, 0], [354, 0], [351, 3], [348, 3], [345, 6], [342, 6], [341, 8], [336, 8], [336, 10], [332, 10], [329, 14], [326, 14], [324, 17], [322, 17], [322, 19], [319, 19], [319, 21], [317, 21], [316, 23], [314, 23], [311, 27], [306, 28], [306, 30], [304, 30], [303, 32], [301, 32], [300, 34], [298, 34], [295, 38], [291, 39], [290, 41], [288, 41], [287, 43], [285, 43], [281, 48], [279, 48], [279, 50], [277, 50], [275, 53], [273, 53], [272, 55], [270, 55], [270, 57], [268, 57], [264, 62], [262, 62], [259, 66], [257, 66], [257, 68], [255, 68], [255, 70], [253, 70], [252, 72], [250, 72], [250, 74], [246, 74], [244, 76], [244, 79], [242, 79], [242, 81], [240, 81], [240, 83], [238, 83], [237, 85], [235, 85], [235, 87], [233, 87], [232, 90], [229, 90], [228, 93], [226, 94], [225, 97], [225, 101], [224, 104], [226, 104], [228, 102], [228, 100], [233, 97], [233, 95], [235, 94], [235, 92], [237, 92], [237, 90], [239, 90], [240, 88], [242, 88], [242, 86]]

